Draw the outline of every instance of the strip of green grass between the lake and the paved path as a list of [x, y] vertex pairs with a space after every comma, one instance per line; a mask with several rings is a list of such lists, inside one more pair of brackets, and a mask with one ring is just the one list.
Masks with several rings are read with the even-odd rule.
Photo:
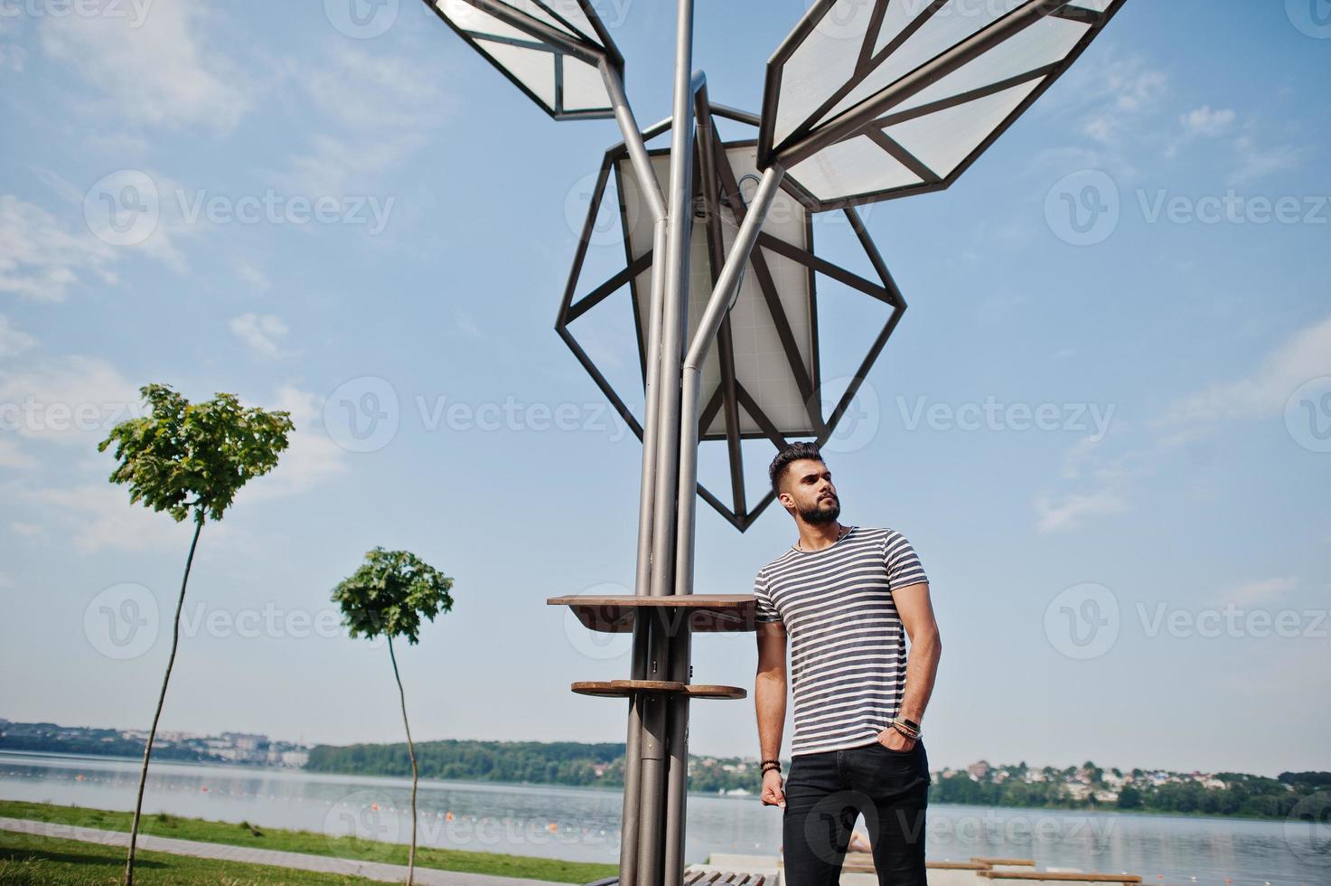
[[[0, 799], [0, 815], [126, 833], [133, 818], [130, 813], [83, 809], [80, 806], [56, 806], [52, 803], [27, 803], [9, 799]], [[358, 839], [355, 837], [329, 837], [307, 830], [277, 830], [249, 823], [237, 825], [236, 822], [181, 818], [165, 813], [145, 814], [140, 821], [138, 831], [156, 837], [197, 839], [205, 843], [277, 849], [289, 853], [331, 855], [334, 858], [353, 858], [390, 865], [407, 863], [407, 846], [405, 843], [383, 843]], [[417, 847], [417, 867], [437, 867], [439, 870], [465, 871], [470, 874], [523, 877], [556, 883], [590, 883], [619, 873], [618, 865], [570, 862], [558, 858], [534, 858], [530, 855], [508, 855], [502, 853], [476, 853], [459, 849], [434, 849], [429, 846]], [[0, 882], [8, 881], [0, 878]]]

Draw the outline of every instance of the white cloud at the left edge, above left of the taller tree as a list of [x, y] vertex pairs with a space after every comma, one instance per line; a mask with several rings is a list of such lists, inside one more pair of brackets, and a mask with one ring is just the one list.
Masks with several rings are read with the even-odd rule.
[[64, 301], [91, 274], [116, 282], [116, 250], [88, 230], [69, 230], [55, 216], [13, 195], [0, 195], [0, 292], [33, 301]]

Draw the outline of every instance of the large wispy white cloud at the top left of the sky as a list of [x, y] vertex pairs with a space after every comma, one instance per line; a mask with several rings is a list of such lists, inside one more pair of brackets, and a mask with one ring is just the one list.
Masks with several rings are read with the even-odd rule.
[[138, 27], [106, 15], [45, 16], [41, 44], [109, 95], [118, 120], [229, 132], [249, 96], [237, 68], [204, 44], [209, 15], [206, 4], [158, 0]]

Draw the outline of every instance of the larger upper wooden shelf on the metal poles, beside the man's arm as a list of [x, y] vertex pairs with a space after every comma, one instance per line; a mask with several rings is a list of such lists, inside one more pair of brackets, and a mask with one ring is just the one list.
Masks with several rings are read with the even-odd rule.
[[550, 597], [551, 606], [568, 606], [586, 628], [611, 634], [634, 629], [634, 617], [647, 610], [662, 618], [667, 632], [687, 624], [693, 632], [747, 632], [755, 629], [753, 594], [583, 594]]

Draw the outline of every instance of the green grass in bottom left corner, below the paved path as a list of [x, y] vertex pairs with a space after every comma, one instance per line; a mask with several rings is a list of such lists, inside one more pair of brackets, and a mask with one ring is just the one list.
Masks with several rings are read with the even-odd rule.
[[[35, 837], [0, 831], [0, 883], [7, 886], [113, 886], [125, 875], [125, 850], [77, 839]], [[246, 865], [244, 862], [190, 858], [166, 853], [136, 853], [134, 883], [212, 883], [258, 886], [260, 883], [369, 883], [361, 877]]]

